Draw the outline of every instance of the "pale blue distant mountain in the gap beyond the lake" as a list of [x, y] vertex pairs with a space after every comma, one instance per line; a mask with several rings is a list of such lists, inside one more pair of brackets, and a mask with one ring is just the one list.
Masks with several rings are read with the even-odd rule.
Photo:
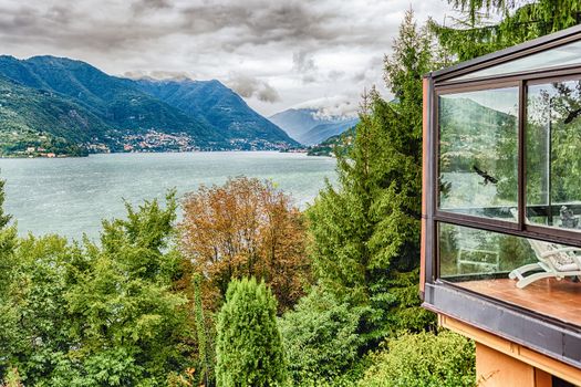
[[321, 117], [317, 109], [291, 108], [269, 117], [292, 138], [303, 145], [315, 145], [354, 126], [359, 118]]

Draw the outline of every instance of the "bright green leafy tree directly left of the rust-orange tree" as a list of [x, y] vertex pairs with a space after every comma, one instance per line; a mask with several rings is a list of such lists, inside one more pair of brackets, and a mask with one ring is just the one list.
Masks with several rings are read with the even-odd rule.
[[179, 255], [168, 243], [176, 218], [175, 192], [127, 219], [103, 222], [101, 245], [85, 241], [82, 261], [72, 263], [66, 292], [72, 332], [82, 345], [80, 378], [103, 385], [163, 385], [191, 363], [186, 297], [172, 290]]

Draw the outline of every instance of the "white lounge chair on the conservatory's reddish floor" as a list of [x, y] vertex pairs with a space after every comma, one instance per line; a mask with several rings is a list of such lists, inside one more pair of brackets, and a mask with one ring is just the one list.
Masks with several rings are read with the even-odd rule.
[[[516, 216], [515, 210], [511, 210]], [[561, 281], [568, 276], [581, 280], [581, 249], [564, 248], [561, 244], [527, 239], [537, 255], [537, 263], [526, 264], [512, 270], [508, 278], [518, 280], [517, 287], [522, 289], [535, 281], [554, 278]], [[539, 272], [540, 271], [540, 272]], [[530, 273], [535, 272], [535, 273]], [[528, 275], [525, 275], [529, 273]]]

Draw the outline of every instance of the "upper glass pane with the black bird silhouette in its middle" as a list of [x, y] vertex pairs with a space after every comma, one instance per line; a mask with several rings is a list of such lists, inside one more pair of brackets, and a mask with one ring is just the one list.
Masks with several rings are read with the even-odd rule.
[[439, 96], [439, 209], [517, 221], [518, 88]]

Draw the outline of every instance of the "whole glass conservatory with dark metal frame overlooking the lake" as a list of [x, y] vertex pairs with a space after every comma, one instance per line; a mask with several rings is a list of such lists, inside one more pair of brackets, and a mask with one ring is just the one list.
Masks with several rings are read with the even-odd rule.
[[423, 150], [424, 306], [581, 384], [581, 28], [427, 74]]

